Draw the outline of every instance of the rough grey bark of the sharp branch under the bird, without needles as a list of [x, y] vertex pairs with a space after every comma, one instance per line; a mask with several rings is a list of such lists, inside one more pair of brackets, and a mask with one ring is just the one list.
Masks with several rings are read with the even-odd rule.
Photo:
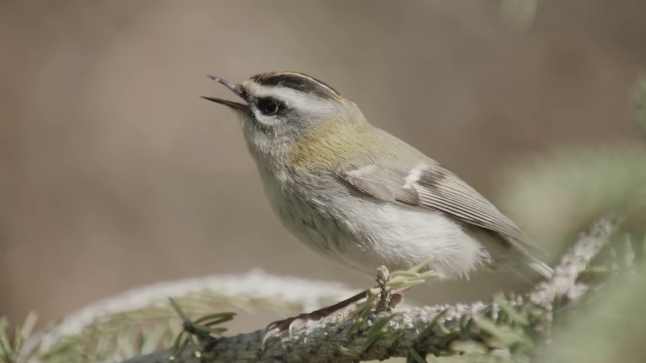
[[[525, 299], [519, 298], [509, 302], [509, 306], [517, 309], [530, 307], [539, 309], [544, 318], [552, 318], [552, 304], [559, 299], [561, 304], [576, 302], [589, 290], [589, 286], [577, 283], [576, 280], [590, 260], [607, 242], [612, 231], [612, 225], [604, 220], [597, 223], [589, 233], [582, 234], [578, 242], [561, 258], [554, 269], [552, 279], [537, 284]], [[504, 308], [504, 306], [503, 306]], [[373, 323], [391, 313], [373, 315]], [[466, 329], [468, 320], [472, 318], [475, 325], [486, 315], [501, 314], [500, 304], [476, 302], [474, 304], [438, 305], [432, 307], [415, 307], [399, 311], [386, 324], [385, 333], [372, 344], [366, 345], [370, 335], [370, 324], [357, 333], [348, 344], [348, 327], [352, 321], [339, 322], [339, 316], [324, 318], [318, 322], [309, 322], [298, 327], [292, 338], [283, 334], [271, 341], [266, 349], [260, 349], [260, 340], [264, 331], [213, 339], [200, 347], [202, 357], [196, 358], [191, 349], [185, 349], [176, 362], [328, 362], [334, 357], [335, 362], [357, 362], [361, 360], [384, 360], [391, 357], [406, 357], [412, 347], [422, 351], [441, 355], [445, 350], [455, 349], [455, 342], [464, 339], [466, 335], [475, 342], [484, 342], [490, 337], [490, 330], [485, 326], [481, 329]], [[545, 320], [530, 322], [532, 329], [544, 329]], [[471, 331], [466, 331], [471, 330]], [[423, 336], [420, 336], [421, 333]], [[374, 331], [372, 332], [374, 334]], [[353, 347], [362, 347], [356, 354], [346, 355], [345, 351], [353, 351]], [[366, 348], [366, 349], [363, 349]], [[127, 363], [167, 362], [168, 352], [135, 357]]]

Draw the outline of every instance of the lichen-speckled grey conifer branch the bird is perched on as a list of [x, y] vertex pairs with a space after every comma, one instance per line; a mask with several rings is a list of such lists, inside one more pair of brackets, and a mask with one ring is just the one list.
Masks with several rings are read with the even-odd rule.
[[[260, 349], [263, 330], [203, 342], [201, 358], [186, 349], [175, 362], [357, 362], [408, 357], [411, 351], [433, 355], [455, 355], [461, 351], [532, 344], [523, 342], [523, 332], [547, 333], [555, 301], [559, 307], [576, 302], [589, 287], [577, 282], [590, 260], [607, 242], [610, 222], [599, 222], [590, 233], [564, 254], [552, 279], [537, 284], [527, 296], [502, 298], [494, 302], [438, 305], [381, 312], [348, 338], [353, 321], [339, 316], [324, 318], [298, 327], [292, 338], [284, 334], [265, 350]], [[388, 319], [384, 324], [384, 319]], [[504, 323], [504, 324], [499, 324]], [[372, 327], [381, 324], [379, 338]], [[518, 344], [514, 340], [518, 340]], [[127, 360], [128, 363], [167, 362], [169, 352]]]

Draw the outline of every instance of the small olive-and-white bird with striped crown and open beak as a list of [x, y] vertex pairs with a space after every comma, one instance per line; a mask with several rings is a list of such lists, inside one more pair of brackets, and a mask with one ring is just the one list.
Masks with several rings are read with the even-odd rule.
[[[244, 101], [203, 97], [239, 116], [269, 203], [295, 238], [368, 275], [410, 269], [429, 256], [438, 278], [530, 267], [549, 278], [542, 251], [475, 189], [408, 143], [374, 127], [355, 103], [300, 72], [240, 84], [209, 76]], [[346, 302], [296, 318], [317, 319]]]

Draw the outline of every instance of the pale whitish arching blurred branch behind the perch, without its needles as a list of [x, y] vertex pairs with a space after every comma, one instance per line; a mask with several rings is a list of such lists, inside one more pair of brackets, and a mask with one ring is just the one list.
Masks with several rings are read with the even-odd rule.
[[[137, 318], [123, 313], [151, 311], [151, 318], [167, 316], [178, 320], [178, 316], [169, 306], [168, 298], [180, 303], [182, 299], [195, 303], [199, 300], [204, 310], [230, 309], [231, 307], [267, 307], [282, 311], [309, 311], [354, 295], [356, 291], [348, 289], [338, 282], [312, 281], [297, 277], [267, 275], [262, 270], [253, 270], [246, 275], [213, 275], [202, 278], [188, 278], [172, 282], [160, 282], [146, 287], [138, 287], [118, 296], [107, 298], [85, 306], [73, 314], [45, 329], [38, 331], [26, 342], [21, 351], [21, 361], [39, 351], [49, 354], [60, 349], [59, 345], [70, 338], [83, 335], [85, 331], [100, 331], [101, 326], [110, 322], [124, 331], [123, 320], [147, 318], [140, 314]], [[138, 319], [138, 320], [136, 320]], [[92, 340], [92, 339], [88, 339]], [[94, 344], [94, 342], [83, 342]], [[76, 344], [79, 345], [79, 344]], [[32, 362], [32, 360], [29, 360]]]

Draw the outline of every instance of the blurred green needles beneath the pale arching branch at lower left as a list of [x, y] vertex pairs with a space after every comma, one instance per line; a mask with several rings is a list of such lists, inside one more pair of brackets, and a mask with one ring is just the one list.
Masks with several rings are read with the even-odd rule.
[[[136, 355], [145, 355], [161, 349], [171, 349], [180, 338], [185, 341], [183, 320], [193, 321], [195, 332], [209, 329], [217, 335], [226, 329], [219, 326], [228, 322], [234, 313], [216, 313], [223, 309], [251, 311], [264, 307], [285, 313], [293, 311], [294, 306], [284, 302], [253, 298], [248, 296], [228, 296], [217, 291], [202, 291], [173, 300], [182, 306], [182, 318], [178, 318], [176, 309], [169, 304], [151, 304], [139, 309], [120, 311], [118, 313], [98, 316], [94, 322], [83, 327], [78, 333], [57, 339], [56, 344], [48, 349], [34, 349], [29, 358], [43, 363], [94, 363], [122, 360]], [[28, 332], [33, 326], [35, 317], [28, 318], [22, 330]], [[2, 324], [5, 324], [4, 326]], [[3, 328], [4, 327], [4, 328]], [[6, 322], [0, 320], [0, 339], [5, 337]], [[0, 340], [0, 363], [23, 363], [17, 360], [17, 352], [25, 338], [13, 338], [9, 349], [4, 349], [5, 339]], [[13, 343], [17, 342], [17, 343]], [[9, 358], [5, 358], [9, 357]]]

